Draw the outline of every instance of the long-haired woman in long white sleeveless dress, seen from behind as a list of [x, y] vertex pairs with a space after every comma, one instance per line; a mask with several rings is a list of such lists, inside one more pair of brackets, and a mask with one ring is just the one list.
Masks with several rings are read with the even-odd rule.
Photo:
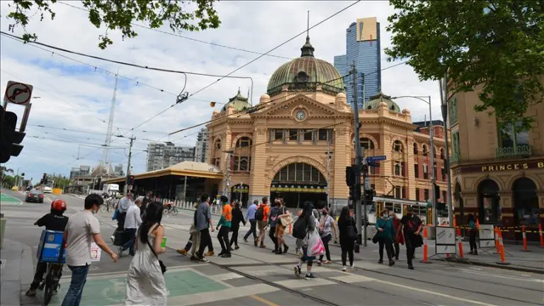
[[164, 253], [161, 247], [164, 237], [164, 227], [161, 225], [163, 210], [160, 202], [149, 203], [145, 210], [137, 232], [136, 254], [128, 268], [126, 306], [166, 305], [166, 283], [155, 255]]

